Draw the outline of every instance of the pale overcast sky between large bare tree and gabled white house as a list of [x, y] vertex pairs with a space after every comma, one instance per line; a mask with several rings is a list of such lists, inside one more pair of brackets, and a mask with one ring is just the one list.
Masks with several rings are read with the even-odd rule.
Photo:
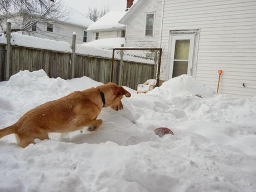
[[111, 11], [125, 11], [126, 0], [63, 0], [67, 6], [86, 14], [88, 7], [102, 8], [107, 5]]

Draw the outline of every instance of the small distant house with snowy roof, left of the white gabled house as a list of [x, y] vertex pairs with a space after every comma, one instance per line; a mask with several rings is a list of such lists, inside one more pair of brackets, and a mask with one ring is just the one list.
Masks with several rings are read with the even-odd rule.
[[91, 32], [93, 40], [103, 38], [125, 37], [125, 25], [118, 21], [127, 13], [125, 11], [112, 11], [105, 14], [98, 21], [91, 24], [86, 31]]

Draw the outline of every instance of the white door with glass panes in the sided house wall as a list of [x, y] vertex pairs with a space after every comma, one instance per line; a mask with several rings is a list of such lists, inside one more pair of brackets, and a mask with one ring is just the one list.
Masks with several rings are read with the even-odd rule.
[[169, 78], [192, 75], [195, 34], [172, 35]]

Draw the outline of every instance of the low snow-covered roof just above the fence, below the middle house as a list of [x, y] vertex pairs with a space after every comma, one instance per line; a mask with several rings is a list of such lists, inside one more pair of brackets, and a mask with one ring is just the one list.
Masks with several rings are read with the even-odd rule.
[[103, 38], [100, 40], [94, 40], [90, 41], [88, 43], [83, 43], [81, 45], [85, 47], [97, 47], [97, 48], [118, 48], [121, 47], [121, 45], [124, 45], [125, 38], [122, 37], [115, 37], [115, 38]]

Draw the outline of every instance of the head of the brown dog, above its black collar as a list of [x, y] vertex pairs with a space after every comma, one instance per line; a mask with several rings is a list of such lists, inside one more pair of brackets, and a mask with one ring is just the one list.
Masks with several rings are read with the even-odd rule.
[[104, 93], [105, 106], [109, 106], [116, 111], [124, 108], [121, 102], [123, 95], [125, 97], [131, 97], [131, 93], [126, 91], [123, 87], [115, 85], [115, 83], [107, 83], [105, 85], [100, 85], [97, 88]]

